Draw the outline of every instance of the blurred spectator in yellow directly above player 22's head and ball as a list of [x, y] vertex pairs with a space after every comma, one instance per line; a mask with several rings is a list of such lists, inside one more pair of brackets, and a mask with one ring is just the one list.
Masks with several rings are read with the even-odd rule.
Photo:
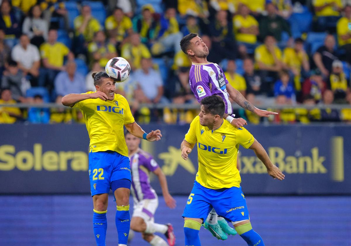
[[105, 67], [108, 60], [117, 57], [116, 48], [110, 42], [106, 42], [104, 31], [94, 34], [94, 41], [88, 45], [90, 64], [98, 61], [101, 67]]

